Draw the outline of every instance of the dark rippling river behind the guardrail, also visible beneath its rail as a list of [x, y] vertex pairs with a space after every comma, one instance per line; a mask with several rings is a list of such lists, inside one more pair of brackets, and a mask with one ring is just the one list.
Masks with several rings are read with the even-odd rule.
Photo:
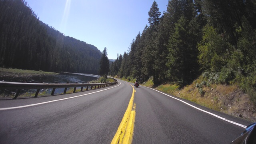
[[[69, 83], [83, 83], [91, 80], [96, 80], [100, 76], [93, 74], [82, 74], [82, 73], [60, 73], [57, 75], [42, 75], [42, 76], [26, 76], [26, 77], [1, 77], [1, 80], [6, 82], [27, 82], [27, 83], [55, 83], [60, 84]], [[42, 89], [40, 93], [44, 92], [46, 95], [50, 94], [52, 89]], [[0, 90], [0, 96], [14, 96], [17, 90]], [[36, 90], [21, 90], [20, 95], [26, 94], [27, 96], [35, 93]], [[56, 88], [54, 94], [61, 94], [64, 88]]]

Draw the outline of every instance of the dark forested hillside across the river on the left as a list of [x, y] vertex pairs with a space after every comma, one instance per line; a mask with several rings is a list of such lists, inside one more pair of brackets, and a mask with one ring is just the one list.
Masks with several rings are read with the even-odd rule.
[[101, 56], [41, 22], [24, 0], [0, 0], [0, 67], [98, 74]]

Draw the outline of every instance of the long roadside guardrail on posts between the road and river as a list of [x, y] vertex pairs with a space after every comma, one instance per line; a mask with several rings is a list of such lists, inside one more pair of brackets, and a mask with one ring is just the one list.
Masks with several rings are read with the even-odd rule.
[[14, 96], [13, 99], [16, 99], [20, 93], [20, 90], [23, 89], [37, 89], [36, 90], [36, 94], [35, 97], [38, 96], [38, 93], [41, 89], [43, 88], [52, 88], [52, 93], [51, 95], [54, 95], [55, 89], [56, 88], [65, 88], [63, 94], [66, 94], [67, 89], [68, 88], [72, 88], [74, 87], [73, 93], [76, 92], [76, 88], [77, 87], [81, 87], [80, 91], [83, 91], [83, 88], [86, 87], [86, 90], [88, 90], [88, 88], [90, 88], [92, 90], [92, 88], [94, 87], [94, 89], [96, 88], [103, 88], [106, 86], [112, 86], [114, 84], [117, 84], [116, 82], [108, 82], [108, 83], [92, 83], [92, 84], [45, 84], [45, 83], [22, 83], [22, 82], [4, 82], [4, 81], [0, 81], [0, 89], [18, 89], [16, 92], [16, 95]]

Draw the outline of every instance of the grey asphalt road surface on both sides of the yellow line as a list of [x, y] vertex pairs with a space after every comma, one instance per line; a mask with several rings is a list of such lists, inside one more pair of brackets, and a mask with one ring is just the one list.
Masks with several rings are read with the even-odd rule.
[[[114, 86], [75, 94], [0, 100], [0, 144], [109, 144], [133, 91], [128, 82], [118, 81]], [[134, 144], [229, 144], [245, 129], [188, 104], [245, 126], [250, 124], [187, 100], [184, 104], [180, 98], [150, 88], [134, 89]], [[42, 104], [31, 106], [38, 103]], [[17, 106], [24, 107], [3, 109]]]

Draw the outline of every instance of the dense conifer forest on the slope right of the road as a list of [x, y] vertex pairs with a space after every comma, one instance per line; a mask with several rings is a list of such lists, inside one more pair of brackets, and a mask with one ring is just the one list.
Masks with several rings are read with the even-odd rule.
[[237, 84], [256, 105], [255, 0], [169, 0], [162, 16], [153, 2], [148, 15], [111, 75], [180, 87], [202, 75], [206, 84]]

